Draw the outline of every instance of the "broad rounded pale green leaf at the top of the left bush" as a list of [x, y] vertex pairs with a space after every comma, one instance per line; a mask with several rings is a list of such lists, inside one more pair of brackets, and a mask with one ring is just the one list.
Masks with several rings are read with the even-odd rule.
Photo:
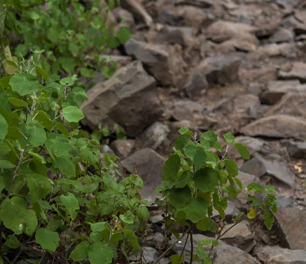
[[13, 91], [22, 96], [31, 94], [38, 89], [38, 81], [32, 74], [15, 74], [10, 79], [10, 85]]

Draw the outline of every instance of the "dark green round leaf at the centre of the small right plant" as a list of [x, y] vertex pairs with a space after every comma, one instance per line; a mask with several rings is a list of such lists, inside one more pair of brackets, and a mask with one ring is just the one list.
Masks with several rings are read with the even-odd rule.
[[197, 171], [193, 176], [193, 181], [196, 188], [199, 188], [203, 193], [214, 191], [218, 186], [219, 174], [210, 167], [205, 167]]

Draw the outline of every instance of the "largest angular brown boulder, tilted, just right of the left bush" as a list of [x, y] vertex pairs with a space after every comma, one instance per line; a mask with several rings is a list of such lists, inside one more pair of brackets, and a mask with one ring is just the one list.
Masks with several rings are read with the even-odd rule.
[[127, 135], [140, 134], [163, 113], [155, 84], [140, 61], [120, 68], [87, 92], [88, 101], [80, 106], [85, 114], [83, 125], [97, 130], [99, 123], [108, 127], [118, 123]]

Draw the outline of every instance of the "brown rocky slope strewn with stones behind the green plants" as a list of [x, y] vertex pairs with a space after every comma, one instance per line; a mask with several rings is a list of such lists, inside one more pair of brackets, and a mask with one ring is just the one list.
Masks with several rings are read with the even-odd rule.
[[[129, 139], [104, 150], [120, 157], [123, 174], [133, 173], [137, 163], [142, 197], [151, 202], [181, 126], [199, 135], [215, 130], [220, 138], [231, 131], [251, 153], [246, 162], [230, 153], [240, 166], [239, 178], [243, 184], [275, 185], [280, 208], [269, 232], [260, 220], [241, 222], [228, 232], [213, 263], [306, 263], [306, 3], [121, 3], [111, 19], [123, 18], [132, 38], [112, 54], [117, 73], [109, 80], [97, 74], [88, 84], [93, 88], [82, 105], [84, 125], [95, 130], [99, 123], [118, 123], [125, 130]], [[227, 223], [245, 209], [244, 197], [229, 203]], [[217, 224], [218, 214], [214, 218]], [[147, 262], [164, 247], [161, 219], [152, 213], [149, 224], [156, 233], [143, 241]], [[196, 239], [204, 235], [213, 234], [196, 234]], [[180, 246], [173, 249], [180, 252]]]

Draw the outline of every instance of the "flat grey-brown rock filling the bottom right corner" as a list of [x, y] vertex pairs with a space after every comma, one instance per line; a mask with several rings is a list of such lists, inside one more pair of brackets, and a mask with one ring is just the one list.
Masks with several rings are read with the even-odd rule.
[[264, 264], [306, 264], [305, 250], [265, 246], [256, 249], [255, 254]]

